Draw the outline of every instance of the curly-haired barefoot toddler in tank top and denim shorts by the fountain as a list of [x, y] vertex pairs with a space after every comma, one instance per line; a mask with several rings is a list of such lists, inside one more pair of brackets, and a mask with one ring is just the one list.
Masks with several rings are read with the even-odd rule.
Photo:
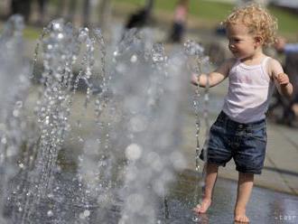
[[[205, 188], [202, 201], [193, 210], [205, 213], [211, 204], [219, 166], [233, 158], [238, 172], [234, 219], [249, 222], [247, 202], [253, 188], [254, 174], [264, 166], [266, 146], [265, 112], [274, 86], [291, 97], [293, 86], [281, 64], [265, 55], [263, 47], [275, 41], [275, 18], [259, 5], [235, 9], [224, 22], [228, 48], [233, 58], [223, 62], [209, 75], [192, 75], [200, 87], [218, 85], [228, 78], [228, 94], [215, 123], [210, 127], [210, 141], [202, 149], [205, 164]], [[204, 151], [207, 150], [207, 158]]]

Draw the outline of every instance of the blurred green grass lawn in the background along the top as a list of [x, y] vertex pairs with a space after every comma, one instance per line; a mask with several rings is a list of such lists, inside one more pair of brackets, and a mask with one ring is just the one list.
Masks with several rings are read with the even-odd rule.
[[[115, 4], [127, 4], [132, 6], [142, 6], [145, 0], [113, 0]], [[156, 11], [173, 12], [176, 5], [175, 0], [155, 0], [154, 9]], [[210, 24], [220, 23], [231, 12], [235, 5], [219, 3], [208, 0], [190, 0], [190, 14], [192, 18], [206, 21]], [[298, 14], [293, 14], [282, 8], [269, 6], [269, 11], [278, 19], [279, 33], [290, 39], [298, 38]]]

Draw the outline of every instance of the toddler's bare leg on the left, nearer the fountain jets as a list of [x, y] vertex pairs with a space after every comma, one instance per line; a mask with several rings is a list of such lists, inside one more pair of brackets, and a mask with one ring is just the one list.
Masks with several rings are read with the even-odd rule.
[[193, 209], [195, 212], [198, 212], [198, 213], [205, 213], [210, 207], [213, 187], [215, 185], [215, 182], [218, 176], [219, 166], [216, 164], [207, 163], [204, 169], [206, 172], [206, 177], [205, 177], [205, 188], [203, 192], [203, 199], [201, 203], [198, 204], [197, 207]]

